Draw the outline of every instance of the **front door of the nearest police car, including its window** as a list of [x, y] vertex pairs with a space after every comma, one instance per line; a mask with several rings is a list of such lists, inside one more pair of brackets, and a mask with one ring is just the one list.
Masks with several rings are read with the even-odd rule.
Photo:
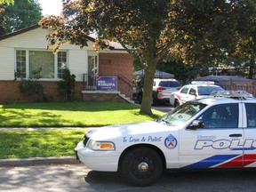
[[237, 103], [215, 105], [197, 118], [204, 128], [180, 130], [180, 167], [241, 167], [244, 130], [238, 128], [238, 112]]

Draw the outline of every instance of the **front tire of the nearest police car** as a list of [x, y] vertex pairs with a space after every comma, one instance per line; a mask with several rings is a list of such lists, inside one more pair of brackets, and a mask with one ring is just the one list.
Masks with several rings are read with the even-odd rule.
[[[140, 165], [148, 169], [140, 171]], [[124, 155], [121, 172], [124, 180], [130, 184], [145, 187], [159, 179], [163, 172], [163, 163], [155, 150], [146, 147], [133, 148]]]

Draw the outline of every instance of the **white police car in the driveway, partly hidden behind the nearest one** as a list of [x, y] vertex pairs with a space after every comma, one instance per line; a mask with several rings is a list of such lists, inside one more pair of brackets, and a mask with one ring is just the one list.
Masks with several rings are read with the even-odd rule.
[[188, 100], [196, 100], [210, 97], [211, 92], [224, 91], [219, 85], [211, 81], [193, 81], [191, 84], [181, 87], [179, 92], [173, 92], [169, 98], [170, 105], [176, 108]]

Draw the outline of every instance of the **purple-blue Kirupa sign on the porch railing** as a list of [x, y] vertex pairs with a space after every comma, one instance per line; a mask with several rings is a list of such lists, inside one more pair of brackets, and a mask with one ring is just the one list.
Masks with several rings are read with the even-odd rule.
[[99, 76], [96, 80], [97, 91], [117, 91], [116, 76]]

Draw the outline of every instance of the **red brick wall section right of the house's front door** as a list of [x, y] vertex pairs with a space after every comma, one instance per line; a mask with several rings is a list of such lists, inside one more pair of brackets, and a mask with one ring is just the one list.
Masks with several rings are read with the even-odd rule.
[[[133, 59], [127, 53], [100, 53], [99, 76], [124, 76], [132, 83]], [[132, 99], [132, 87], [118, 79], [118, 91]]]

